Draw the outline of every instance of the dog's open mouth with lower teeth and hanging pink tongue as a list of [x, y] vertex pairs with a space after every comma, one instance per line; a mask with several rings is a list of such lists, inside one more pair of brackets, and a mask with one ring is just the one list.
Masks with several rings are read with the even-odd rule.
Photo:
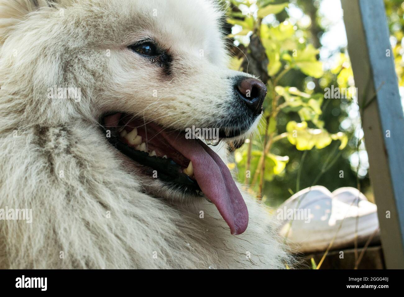
[[246, 230], [248, 211], [240, 191], [227, 166], [203, 141], [122, 113], [105, 116], [102, 125], [110, 131], [109, 142], [152, 177], [201, 191], [216, 205], [231, 234]]

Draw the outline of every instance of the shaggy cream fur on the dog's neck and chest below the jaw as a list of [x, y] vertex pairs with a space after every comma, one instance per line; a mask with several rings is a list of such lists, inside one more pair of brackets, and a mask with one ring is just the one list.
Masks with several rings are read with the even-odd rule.
[[248, 229], [231, 236], [208, 202], [180, 208], [143, 194], [84, 122], [1, 135], [0, 205], [33, 210], [31, 224], [2, 222], [9, 268], [284, 267], [268, 214], [246, 196]]

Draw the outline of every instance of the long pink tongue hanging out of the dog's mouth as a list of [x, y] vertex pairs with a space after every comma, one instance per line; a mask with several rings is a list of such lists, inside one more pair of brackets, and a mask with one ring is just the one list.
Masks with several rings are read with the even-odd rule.
[[247, 206], [221, 158], [198, 139], [185, 139], [185, 135], [178, 133], [162, 135], [170, 145], [192, 161], [198, 185], [216, 205], [229, 225], [231, 234], [242, 234], [248, 225]]

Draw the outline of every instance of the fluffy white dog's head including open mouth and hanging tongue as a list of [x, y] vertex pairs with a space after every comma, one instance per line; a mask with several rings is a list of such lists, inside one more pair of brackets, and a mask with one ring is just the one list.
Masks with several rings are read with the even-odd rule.
[[14, 59], [10, 69], [36, 69], [26, 75], [36, 77], [32, 92], [42, 92], [44, 101], [59, 94], [76, 99], [52, 103], [52, 112], [63, 110], [61, 119], [78, 113], [101, 124], [100, 137], [139, 169], [147, 191], [207, 197], [234, 234], [245, 230], [240, 192], [206, 142], [249, 133], [261, 115], [266, 87], [227, 69], [223, 13], [213, 0], [3, 0], [1, 5], [7, 11], [0, 17], [20, 15], [0, 25], [2, 59], [13, 61], [10, 51], [16, 49], [23, 58]]

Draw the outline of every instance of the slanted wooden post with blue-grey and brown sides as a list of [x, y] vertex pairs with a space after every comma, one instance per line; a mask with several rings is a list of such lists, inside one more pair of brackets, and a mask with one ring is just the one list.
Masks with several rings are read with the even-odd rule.
[[[341, 0], [387, 268], [404, 268], [404, 116], [383, 0]], [[388, 215], [389, 214], [389, 215]]]

